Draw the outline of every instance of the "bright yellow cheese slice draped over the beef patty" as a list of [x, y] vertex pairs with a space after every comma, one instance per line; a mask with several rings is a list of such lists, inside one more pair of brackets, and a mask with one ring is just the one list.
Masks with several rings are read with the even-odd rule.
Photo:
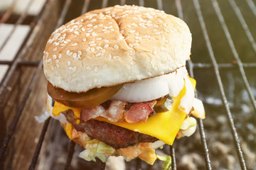
[[[193, 87], [196, 87], [196, 80], [190, 78]], [[186, 113], [178, 106], [181, 103], [181, 98], [186, 94], [186, 86], [180, 91], [178, 96], [174, 97], [174, 103], [171, 105], [171, 110], [163, 113], [156, 113], [146, 120], [146, 122], [140, 123], [127, 123], [127, 122], [110, 122], [105, 118], [95, 118], [95, 120], [105, 121], [113, 125], [118, 125], [122, 128], [133, 130], [134, 132], [141, 132], [146, 135], [151, 135], [157, 139], [165, 142], [168, 145], [174, 143], [178, 130], [181, 128], [183, 120], [186, 118]], [[53, 107], [53, 115], [59, 115], [63, 111], [72, 109], [75, 118], [80, 118], [82, 108], [70, 108], [64, 106], [61, 103], [55, 102]]]

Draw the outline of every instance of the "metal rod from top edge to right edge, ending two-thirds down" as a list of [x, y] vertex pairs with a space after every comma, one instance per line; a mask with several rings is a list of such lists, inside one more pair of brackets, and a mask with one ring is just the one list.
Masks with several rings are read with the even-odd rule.
[[238, 56], [238, 52], [235, 50], [234, 42], [231, 38], [230, 32], [228, 31], [228, 26], [226, 25], [225, 20], [223, 18], [223, 14], [220, 11], [220, 7], [218, 6], [218, 2], [216, 0], [212, 0], [212, 3], [213, 3], [213, 8], [215, 9], [215, 13], [217, 14], [218, 19], [221, 23], [221, 26], [222, 26], [222, 28], [225, 32], [225, 36], [228, 40], [228, 44], [230, 45], [230, 48], [233, 52], [235, 60], [238, 62], [238, 68], [239, 68], [240, 74], [242, 75], [242, 80], [245, 83], [245, 87], [246, 87], [247, 92], [250, 96], [250, 100], [252, 101], [252, 106], [253, 106], [253, 108], [255, 109], [255, 112], [256, 112], [256, 100], [255, 100], [255, 97], [252, 94], [252, 89], [250, 88], [249, 82], [247, 80], [245, 70], [242, 67], [242, 62], [240, 60], [240, 57]]

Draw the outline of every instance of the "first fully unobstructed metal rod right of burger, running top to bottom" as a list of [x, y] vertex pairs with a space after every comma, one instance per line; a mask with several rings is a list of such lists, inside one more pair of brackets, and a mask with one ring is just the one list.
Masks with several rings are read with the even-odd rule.
[[220, 87], [220, 94], [222, 96], [223, 104], [224, 104], [225, 109], [226, 109], [227, 114], [228, 114], [228, 123], [230, 125], [231, 132], [232, 132], [232, 135], [233, 135], [235, 148], [236, 148], [236, 151], [238, 153], [238, 157], [239, 157], [239, 161], [240, 161], [240, 166], [241, 166], [242, 169], [246, 169], [245, 159], [242, 156], [242, 149], [240, 147], [240, 141], [239, 141], [239, 138], [238, 138], [238, 132], [235, 129], [235, 125], [234, 125], [234, 121], [233, 121], [233, 118], [232, 118], [232, 114], [230, 112], [228, 100], [225, 96], [225, 91], [224, 91], [223, 83], [222, 83], [221, 78], [220, 78], [220, 72], [219, 72], [219, 69], [218, 69], [218, 64], [215, 60], [213, 47], [210, 43], [210, 38], [209, 38], [208, 32], [206, 30], [206, 23], [203, 20], [203, 14], [202, 14], [202, 11], [201, 11], [201, 6], [200, 6], [198, 0], [193, 0], [193, 4], [196, 8], [196, 13], [197, 13], [198, 19], [200, 21], [200, 26], [201, 26], [201, 29], [203, 31], [203, 37], [206, 40], [206, 46], [208, 48], [208, 52], [209, 52], [209, 55], [210, 55], [210, 60], [212, 60], [212, 62], [213, 62], [215, 75], [216, 75], [216, 78], [217, 78], [217, 81], [218, 81], [218, 86]]

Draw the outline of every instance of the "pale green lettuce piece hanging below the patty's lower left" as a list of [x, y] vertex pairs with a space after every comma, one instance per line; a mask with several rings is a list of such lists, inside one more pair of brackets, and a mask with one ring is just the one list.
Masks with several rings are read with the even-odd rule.
[[107, 158], [114, 153], [113, 147], [110, 147], [99, 140], [88, 140], [85, 148], [86, 149], [83, 152], [80, 152], [78, 157], [85, 159], [88, 162], [96, 162], [96, 157], [102, 162], [106, 162]]

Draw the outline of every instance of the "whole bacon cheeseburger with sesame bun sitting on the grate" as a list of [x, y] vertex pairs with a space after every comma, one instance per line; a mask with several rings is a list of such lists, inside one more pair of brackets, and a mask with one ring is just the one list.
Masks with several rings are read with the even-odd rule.
[[43, 52], [48, 113], [85, 148], [87, 161], [110, 156], [171, 164], [156, 154], [192, 135], [204, 118], [188, 76], [191, 33], [181, 19], [154, 8], [90, 11], [55, 30]]

